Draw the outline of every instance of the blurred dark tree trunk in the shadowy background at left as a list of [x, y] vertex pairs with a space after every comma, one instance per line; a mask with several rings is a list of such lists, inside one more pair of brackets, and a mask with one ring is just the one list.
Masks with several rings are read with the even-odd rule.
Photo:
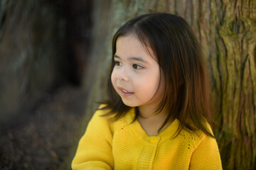
[[0, 0], [0, 125], [15, 125], [65, 79], [64, 1]]

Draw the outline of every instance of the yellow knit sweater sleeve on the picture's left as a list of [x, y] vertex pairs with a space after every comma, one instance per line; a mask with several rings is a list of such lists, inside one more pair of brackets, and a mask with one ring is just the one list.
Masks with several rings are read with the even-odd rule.
[[112, 130], [107, 118], [100, 116], [102, 114], [97, 111], [88, 123], [71, 165], [73, 170], [113, 169]]

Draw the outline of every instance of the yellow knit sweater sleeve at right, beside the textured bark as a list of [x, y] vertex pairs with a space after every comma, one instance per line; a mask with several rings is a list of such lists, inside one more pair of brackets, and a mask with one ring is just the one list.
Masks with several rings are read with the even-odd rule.
[[203, 140], [191, 156], [190, 169], [222, 169], [215, 138], [203, 135]]

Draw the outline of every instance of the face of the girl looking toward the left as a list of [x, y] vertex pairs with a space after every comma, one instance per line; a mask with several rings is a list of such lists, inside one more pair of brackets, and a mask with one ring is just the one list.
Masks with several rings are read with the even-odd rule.
[[164, 77], [160, 82], [159, 64], [149, 52], [134, 35], [117, 38], [111, 80], [127, 106], [156, 107], [163, 97]]

